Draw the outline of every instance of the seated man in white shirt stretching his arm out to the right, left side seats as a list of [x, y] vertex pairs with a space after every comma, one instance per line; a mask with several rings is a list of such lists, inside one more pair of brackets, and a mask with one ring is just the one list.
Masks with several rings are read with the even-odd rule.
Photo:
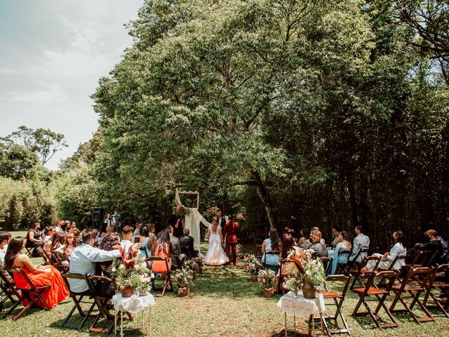
[[[103, 251], [93, 246], [98, 232], [96, 230], [83, 230], [81, 239], [83, 244], [77, 246], [70, 255], [70, 270], [81, 275], [95, 275], [95, 263], [121, 258], [121, 247], [114, 246], [114, 251]], [[70, 289], [76, 293], [88, 290], [88, 285], [83, 279], [70, 279]]]

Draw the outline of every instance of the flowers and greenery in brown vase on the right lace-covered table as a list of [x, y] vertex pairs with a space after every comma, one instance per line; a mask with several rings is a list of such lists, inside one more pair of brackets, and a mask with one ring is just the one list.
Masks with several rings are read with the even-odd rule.
[[313, 251], [310, 249], [302, 251], [297, 248], [288, 256], [295, 262], [299, 270], [295, 279], [297, 279], [297, 282], [300, 282], [305, 298], [315, 298], [316, 293], [324, 288], [326, 280], [323, 263], [319, 258], [314, 258], [312, 253]]

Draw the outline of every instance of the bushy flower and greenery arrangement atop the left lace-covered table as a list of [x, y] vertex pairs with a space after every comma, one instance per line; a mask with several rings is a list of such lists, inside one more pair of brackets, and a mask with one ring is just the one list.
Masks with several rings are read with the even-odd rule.
[[133, 286], [135, 291], [142, 295], [152, 288], [151, 281], [154, 279], [154, 274], [145, 267], [145, 258], [140, 254], [131, 260], [116, 258], [112, 261], [109, 272], [119, 289]]

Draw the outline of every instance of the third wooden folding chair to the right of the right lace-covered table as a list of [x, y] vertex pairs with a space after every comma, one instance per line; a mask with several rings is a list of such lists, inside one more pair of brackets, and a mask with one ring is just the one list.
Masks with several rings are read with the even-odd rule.
[[[400, 285], [393, 286], [391, 290], [393, 290], [395, 297], [393, 302], [390, 305], [389, 310], [391, 312], [408, 312], [413, 319], [415, 319], [415, 322], [422, 323], [422, 322], [435, 322], [434, 317], [430, 315], [429, 310], [424, 306], [424, 304], [420, 301], [420, 295], [421, 293], [424, 293], [426, 291], [426, 288], [424, 287], [427, 282], [429, 282], [430, 277], [430, 269], [429, 267], [416, 267], [416, 268], [410, 268], [407, 275], [403, 278]], [[413, 279], [423, 279], [420, 282], [413, 282], [413, 284], [410, 281], [413, 281]], [[410, 283], [409, 283], [410, 282]], [[410, 296], [406, 297], [404, 295], [410, 294]], [[412, 298], [412, 303], [408, 305], [406, 303], [406, 298]], [[398, 302], [401, 302], [404, 309], [394, 309], [396, 307], [396, 304]], [[418, 318], [415, 315], [415, 312], [413, 312], [413, 308], [415, 307], [415, 304], [420, 305], [420, 308], [422, 311], [427, 315], [427, 317]]]

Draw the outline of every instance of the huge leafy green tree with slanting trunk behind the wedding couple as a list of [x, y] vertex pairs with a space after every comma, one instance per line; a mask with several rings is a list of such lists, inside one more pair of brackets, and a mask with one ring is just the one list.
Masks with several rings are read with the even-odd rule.
[[300, 169], [273, 118], [322, 119], [322, 82], [338, 93], [374, 47], [361, 1], [146, 1], [130, 32], [93, 96], [128, 189], [254, 185], [272, 226], [270, 191]]

